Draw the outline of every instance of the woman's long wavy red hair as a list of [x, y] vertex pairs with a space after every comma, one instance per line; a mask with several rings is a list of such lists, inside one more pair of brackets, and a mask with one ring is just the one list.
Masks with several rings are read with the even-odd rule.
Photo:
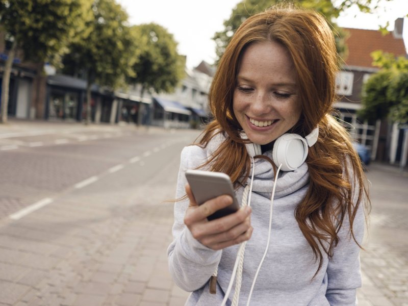
[[329, 258], [333, 256], [345, 218], [350, 224], [350, 235], [358, 243], [353, 234], [353, 220], [362, 203], [367, 208], [370, 205], [360, 159], [348, 132], [331, 116], [339, 61], [327, 21], [314, 11], [291, 6], [272, 7], [246, 19], [219, 61], [209, 93], [214, 120], [196, 144], [205, 147], [214, 135], [223, 133], [226, 140], [205, 165], [230, 175], [236, 187], [247, 179], [251, 162], [239, 137], [242, 127], [234, 115], [233, 94], [244, 50], [250, 44], [264, 41], [285, 46], [296, 70], [302, 114], [290, 133], [304, 137], [319, 126], [318, 141], [309, 148], [306, 159], [309, 189], [294, 212], [319, 262], [319, 271], [323, 252]]

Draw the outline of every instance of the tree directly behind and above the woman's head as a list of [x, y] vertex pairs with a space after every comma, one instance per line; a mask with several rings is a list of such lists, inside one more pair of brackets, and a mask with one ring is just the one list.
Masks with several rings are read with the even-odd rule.
[[[334, 18], [339, 17], [340, 12], [346, 10], [347, 8], [357, 5], [361, 11], [370, 12], [371, 9], [375, 9], [380, 2], [387, 2], [390, 0], [343, 0], [341, 2], [336, 2], [333, 4], [331, 0], [299, 0], [296, 5], [300, 5], [304, 8], [313, 8], [330, 21], [333, 26], [333, 32], [335, 34], [337, 51], [340, 56], [344, 56], [347, 53], [347, 47], [345, 45], [346, 33], [344, 30], [339, 28], [335, 22]], [[234, 35], [234, 32], [239, 28], [241, 23], [249, 16], [262, 12], [265, 9], [271, 7], [274, 4], [286, 3], [287, 1], [282, 0], [242, 0], [233, 9], [229, 19], [224, 21], [224, 30], [215, 33], [213, 40], [216, 43], [216, 54], [220, 58], [224, 53], [225, 47]]]

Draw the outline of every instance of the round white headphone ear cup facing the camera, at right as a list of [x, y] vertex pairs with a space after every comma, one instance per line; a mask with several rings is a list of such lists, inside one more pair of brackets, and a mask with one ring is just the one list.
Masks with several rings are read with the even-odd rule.
[[284, 134], [275, 140], [272, 160], [276, 166], [282, 164], [283, 171], [300, 167], [308, 156], [308, 143], [297, 134]]

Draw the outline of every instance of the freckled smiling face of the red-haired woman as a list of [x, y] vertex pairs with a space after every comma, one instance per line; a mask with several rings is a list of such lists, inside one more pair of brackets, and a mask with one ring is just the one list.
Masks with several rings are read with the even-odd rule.
[[234, 90], [234, 114], [249, 140], [269, 144], [299, 120], [296, 72], [287, 49], [274, 41], [249, 45]]

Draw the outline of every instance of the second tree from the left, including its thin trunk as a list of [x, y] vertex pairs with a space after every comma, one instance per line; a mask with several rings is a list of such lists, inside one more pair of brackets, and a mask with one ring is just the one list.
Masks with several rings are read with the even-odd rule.
[[73, 41], [63, 58], [62, 71], [86, 79], [86, 123], [91, 118], [91, 86], [97, 83], [114, 90], [133, 75], [136, 39], [127, 26], [127, 13], [114, 0], [94, 0], [89, 31]]

